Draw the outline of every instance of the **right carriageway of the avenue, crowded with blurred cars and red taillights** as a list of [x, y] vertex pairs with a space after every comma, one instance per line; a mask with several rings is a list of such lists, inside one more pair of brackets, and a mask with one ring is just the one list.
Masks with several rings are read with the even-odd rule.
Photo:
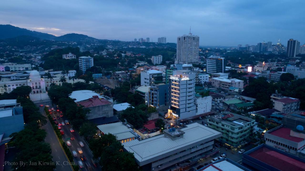
[[[88, 145], [83, 141], [81, 136], [77, 132], [71, 132], [70, 131], [70, 128], [72, 128], [72, 125], [65, 123], [66, 118], [64, 116], [60, 117], [60, 112], [56, 111], [56, 106], [52, 106], [51, 104], [49, 104], [49, 106], [50, 106], [49, 107], [50, 109], [52, 107], [55, 109], [54, 110], [55, 113], [53, 112], [51, 114], [51, 116], [55, 117], [57, 122], [64, 123], [64, 125], [61, 126], [61, 130], [64, 131], [64, 135], [62, 136], [63, 137], [63, 141], [64, 142], [70, 141], [71, 146], [69, 146], [68, 148], [70, 149], [71, 152], [72, 151], [76, 151], [77, 152], [77, 157], [74, 157], [74, 163], [76, 165], [78, 165], [78, 161], [81, 161], [83, 163], [83, 165], [84, 165], [84, 168], [82, 168], [81, 170], [85, 170], [85, 171], [88, 171], [88, 170], [101, 170], [101, 167], [99, 165], [96, 165], [97, 167], [95, 167], [93, 165], [93, 163], [91, 162], [91, 159], [93, 158], [93, 156], [91, 154], [91, 151], [90, 151]], [[41, 108], [43, 108], [43, 107], [41, 107]], [[41, 110], [43, 110], [43, 109], [41, 109]], [[71, 137], [73, 137], [74, 139], [72, 138], [72, 140], [71, 140]], [[82, 141], [84, 143], [84, 147], [81, 147], [81, 145], [79, 144], [80, 141]], [[83, 153], [79, 154], [77, 148], [81, 148]], [[55, 157], [55, 155], [53, 155], [53, 156]], [[84, 159], [84, 157], [86, 159], [84, 159], [84, 161], [82, 161], [81, 160], [81, 156], [83, 157], [83, 159]]]

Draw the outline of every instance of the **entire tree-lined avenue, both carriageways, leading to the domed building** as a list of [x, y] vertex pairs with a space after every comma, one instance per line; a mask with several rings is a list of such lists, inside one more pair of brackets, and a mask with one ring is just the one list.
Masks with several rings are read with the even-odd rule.
[[[43, 105], [46, 105], [48, 104], [50, 107], [50, 109], [52, 107], [54, 107], [55, 111], [56, 111], [56, 106], [52, 106], [51, 103], [40, 103], [40, 104], [43, 104]], [[38, 104], [39, 105], [39, 104]], [[44, 107], [40, 107], [40, 111], [41, 113], [43, 113], [44, 115]], [[44, 115], [45, 116], [45, 115]], [[84, 161], [81, 161], [83, 163], [83, 168], [81, 170], [101, 170], [101, 167], [97, 165], [97, 167], [95, 167], [92, 162], [91, 162], [91, 159], [92, 159], [92, 154], [89, 150], [89, 147], [88, 145], [82, 140], [82, 138], [79, 136], [79, 134], [77, 132], [70, 132], [70, 128], [72, 128], [72, 125], [66, 125], [65, 123], [65, 117], [60, 117], [60, 113], [56, 111], [56, 113], [52, 113], [51, 115], [52, 117], [55, 117], [56, 118], [56, 121], [59, 122], [59, 123], [62, 123], [64, 122], [64, 125], [61, 126], [61, 130], [64, 131], [64, 135], [63, 135], [63, 141], [66, 142], [66, 140], [69, 140], [70, 143], [71, 143], [71, 146], [68, 147], [70, 149], [70, 151], [72, 152], [73, 150], [77, 152], [77, 157], [74, 157], [74, 163], [76, 165], [78, 165], [78, 161], [81, 161], [81, 156], [86, 159], [84, 159]], [[49, 127], [47, 127], [46, 131], [47, 131], [47, 134], [52, 134], [54, 135], [55, 137], [51, 138], [49, 141], [47, 140], [46, 138], [46, 141], [48, 143], [51, 144], [51, 147], [52, 147], [52, 156], [53, 156], [53, 160], [54, 161], [60, 161], [60, 162], [64, 162], [64, 161], [67, 161], [66, 159], [66, 156], [61, 153], [63, 153], [63, 150], [62, 148], [60, 147], [59, 145], [59, 142], [56, 138], [56, 135], [53, 131], [53, 128], [52, 128], [52, 125], [48, 122]], [[45, 127], [45, 126], [44, 126]], [[71, 140], [71, 137], [73, 137], [75, 140]], [[84, 143], [84, 147], [81, 147], [81, 145], [79, 144], [79, 142], [82, 141]], [[81, 150], [83, 151], [82, 154], [79, 154], [79, 152], [77, 151], [77, 148], [81, 148]], [[59, 152], [60, 151], [60, 152]], [[59, 152], [59, 154], [58, 154]], [[54, 154], [53, 154], [54, 153]], [[59, 158], [57, 160], [57, 158]], [[62, 159], [63, 158], [63, 159]], [[72, 162], [72, 161], [71, 161]], [[70, 167], [70, 166], [69, 166]], [[63, 169], [63, 170], [71, 170], [71, 168], [67, 168], [67, 169]]]

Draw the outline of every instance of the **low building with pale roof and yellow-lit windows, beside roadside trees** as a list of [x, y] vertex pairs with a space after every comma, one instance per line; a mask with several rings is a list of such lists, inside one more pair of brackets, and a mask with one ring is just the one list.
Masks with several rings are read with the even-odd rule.
[[97, 132], [99, 136], [102, 136], [104, 134], [113, 134], [117, 137], [117, 140], [122, 144], [140, 138], [140, 136], [136, 134], [135, 131], [133, 130], [133, 126], [127, 122], [104, 124], [104, 125], [98, 125], [97, 127], [99, 129]]

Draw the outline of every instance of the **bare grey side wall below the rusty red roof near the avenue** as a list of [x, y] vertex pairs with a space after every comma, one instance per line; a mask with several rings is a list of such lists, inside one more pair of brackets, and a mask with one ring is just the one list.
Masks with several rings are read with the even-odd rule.
[[88, 109], [91, 110], [90, 113], [87, 114], [88, 119], [113, 116], [113, 103], [88, 107]]

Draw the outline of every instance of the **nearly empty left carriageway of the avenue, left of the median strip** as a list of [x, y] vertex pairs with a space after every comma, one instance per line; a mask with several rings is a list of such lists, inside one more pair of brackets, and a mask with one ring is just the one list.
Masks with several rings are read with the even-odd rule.
[[[50, 102], [41, 103], [41, 104], [51, 105]], [[43, 116], [47, 117], [43, 110], [44, 107], [39, 107], [39, 108], [40, 108], [39, 110], [40, 110], [41, 114]], [[47, 124], [45, 124], [41, 128], [47, 132], [47, 136], [45, 137], [45, 142], [47, 142], [51, 145], [53, 161], [56, 164], [56, 171], [72, 171], [71, 166], [68, 164], [68, 159], [66, 158], [66, 155], [63, 152], [63, 149], [60, 147], [56, 134], [53, 131], [53, 127], [48, 119], [47, 119]]]

